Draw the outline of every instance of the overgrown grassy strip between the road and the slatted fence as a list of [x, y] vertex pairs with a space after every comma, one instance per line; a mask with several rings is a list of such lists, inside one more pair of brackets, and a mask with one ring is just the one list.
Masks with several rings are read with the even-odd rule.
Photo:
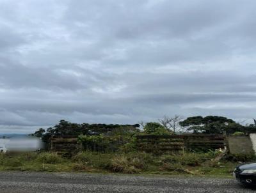
[[[218, 152], [154, 156], [149, 153], [95, 153], [85, 151], [71, 158], [56, 153], [13, 153], [0, 155], [1, 171], [49, 171], [128, 174], [189, 174], [230, 176], [238, 160], [254, 157], [228, 156], [214, 162]], [[246, 161], [246, 160], [243, 160]], [[241, 163], [241, 162], [240, 162]]]

